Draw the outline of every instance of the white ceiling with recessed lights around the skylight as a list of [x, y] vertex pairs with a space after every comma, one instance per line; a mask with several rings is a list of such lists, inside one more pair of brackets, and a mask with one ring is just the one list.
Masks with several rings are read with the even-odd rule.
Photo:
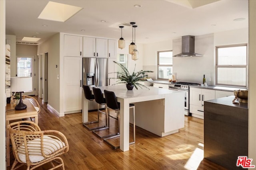
[[[58, 32], [119, 39], [118, 25], [136, 22], [136, 43], [153, 43], [248, 27], [248, 0], [52, 1], [83, 9], [66, 22], [49, 21], [38, 19], [48, 0], [6, 0], [6, 34], [16, 35], [17, 41], [36, 35], [38, 43]], [[123, 38], [132, 40], [132, 27], [124, 27]]]

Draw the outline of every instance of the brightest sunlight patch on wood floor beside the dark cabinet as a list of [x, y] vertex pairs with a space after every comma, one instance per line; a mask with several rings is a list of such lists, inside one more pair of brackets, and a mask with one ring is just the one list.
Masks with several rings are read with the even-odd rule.
[[[202, 143], [199, 143], [198, 145], [200, 148], [204, 147]], [[204, 150], [200, 148], [196, 148], [194, 150], [193, 154], [188, 159], [188, 162], [186, 163], [184, 168], [186, 168], [187, 170], [196, 170], [198, 168], [200, 162], [204, 158]]]

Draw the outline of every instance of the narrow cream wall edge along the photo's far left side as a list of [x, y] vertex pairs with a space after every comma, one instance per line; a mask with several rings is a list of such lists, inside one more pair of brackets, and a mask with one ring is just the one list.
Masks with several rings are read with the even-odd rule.
[[0, 169], [6, 169], [5, 150], [5, 0], [0, 0]]

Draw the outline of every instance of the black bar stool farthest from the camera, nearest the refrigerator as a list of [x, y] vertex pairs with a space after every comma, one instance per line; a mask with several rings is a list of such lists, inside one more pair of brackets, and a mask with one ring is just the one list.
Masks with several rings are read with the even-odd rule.
[[[92, 92], [91, 92], [89, 86], [83, 85], [83, 89], [84, 89], [84, 96], [85, 96], [85, 98], [86, 98], [87, 100], [92, 101], [92, 100], [95, 99], [95, 98], [94, 98], [94, 95], [92, 94]], [[98, 107], [98, 109], [99, 109], [99, 107]], [[89, 124], [98, 123], [98, 122], [99, 122], [99, 120], [100, 120], [100, 119], [99, 119], [99, 118], [100, 118], [99, 113], [100, 113], [100, 112], [98, 111], [98, 120], [83, 123], [84, 127], [86, 127], [86, 128], [89, 129], [89, 130], [100, 129], [100, 128], [106, 127], [106, 125], [100, 126], [100, 127], [92, 127], [92, 128], [90, 128], [90, 127], [87, 126], [87, 125], [89, 125]], [[103, 113], [103, 112], [102, 112], [102, 113]]]

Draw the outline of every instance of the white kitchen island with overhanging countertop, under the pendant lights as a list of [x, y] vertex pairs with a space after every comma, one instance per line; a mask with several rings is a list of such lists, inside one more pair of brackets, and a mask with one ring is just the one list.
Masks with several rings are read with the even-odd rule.
[[[120, 102], [120, 149], [129, 150], [129, 104], [135, 104], [136, 126], [160, 137], [184, 127], [184, 92], [162, 88], [127, 90], [125, 85], [97, 87], [112, 91]], [[84, 93], [83, 93], [84, 94]], [[88, 100], [83, 97], [82, 123], [88, 121]]]

